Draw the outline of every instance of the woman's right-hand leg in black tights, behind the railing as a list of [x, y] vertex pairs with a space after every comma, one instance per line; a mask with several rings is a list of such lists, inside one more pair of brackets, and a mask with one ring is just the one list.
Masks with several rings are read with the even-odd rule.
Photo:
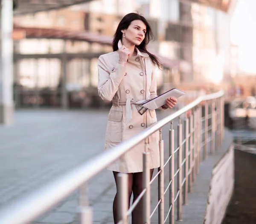
[[[150, 170], [150, 180], [152, 179], [154, 169]], [[143, 172], [134, 173], [133, 175], [133, 185], [132, 185], [132, 192], [133, 192], [133, 202], [137, 199], [140, 193], [143, 191]], [[137, 204], [135, 209], [131, 214], [132, 224], [143, 224], [143, 217], [142, 217], [142, 200]]]

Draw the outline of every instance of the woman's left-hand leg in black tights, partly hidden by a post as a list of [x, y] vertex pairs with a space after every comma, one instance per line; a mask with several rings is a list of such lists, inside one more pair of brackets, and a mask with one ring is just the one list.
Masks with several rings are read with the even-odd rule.
[[[120, 220], [118, 220], [118, 204], [117, 204], [117, 197], [118, 197], [118, 192], [117, 192], [117, 175], [119, 172], [113, 171], [114, 178], [116, 181], [116, 196], [113, 201], [113, 217], [114, 217], [114, 223], [117, 224]], [[127, 173], [128, 174], [128, 208], [130, 207], [130, 201], [131, 201], [131, 193], [132, 193], [132, 182], [133, 182], [133, 173]]]

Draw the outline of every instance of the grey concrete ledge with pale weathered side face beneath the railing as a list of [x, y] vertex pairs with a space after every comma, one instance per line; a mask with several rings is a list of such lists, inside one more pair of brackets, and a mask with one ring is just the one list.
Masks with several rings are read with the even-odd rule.
[[182, 222], [175, 224], [221, 224], [234, 188], [233, 137], [224, 132], [221, 147], [201, 162], [200, 171], [182, 206]]

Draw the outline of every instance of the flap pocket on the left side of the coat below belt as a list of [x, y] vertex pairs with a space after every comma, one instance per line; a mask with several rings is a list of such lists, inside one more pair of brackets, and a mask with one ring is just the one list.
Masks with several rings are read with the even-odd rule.
[[108, 114], [106, 142], [122, 141], [122, 111], [111, 110]]

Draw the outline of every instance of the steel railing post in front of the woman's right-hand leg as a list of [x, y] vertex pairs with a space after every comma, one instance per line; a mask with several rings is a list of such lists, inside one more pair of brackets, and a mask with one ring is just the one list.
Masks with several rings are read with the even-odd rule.
[[148, 159], [150, 153], [143, 153], [143, 189], [146, 192], [143, 195], [143, 223], [150, 224], [150, 169], [148, 167]]

